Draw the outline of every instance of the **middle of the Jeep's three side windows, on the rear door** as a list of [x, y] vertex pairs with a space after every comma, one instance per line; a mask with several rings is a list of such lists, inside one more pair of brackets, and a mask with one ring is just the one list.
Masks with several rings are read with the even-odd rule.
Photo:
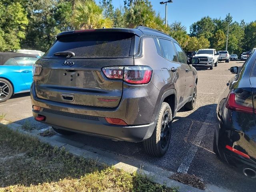
[[171, 41], [166, 39], [159, 39], [162, 55], [169, 61], [179, 62], [174, 46]]

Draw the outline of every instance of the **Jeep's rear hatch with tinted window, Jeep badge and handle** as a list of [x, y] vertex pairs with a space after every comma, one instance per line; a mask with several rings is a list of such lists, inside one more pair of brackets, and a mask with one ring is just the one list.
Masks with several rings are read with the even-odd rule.
[[[122, 98], [123, 80], [108, 79], [101, 69], [134, 65], [135, 36], [131, 32], [102, 30], [58, 36], [44, 57], [36, 62], [42, 66], [41, 74], [34, 76], [36, 95], [74, 105], [117, 107]], [[73, 52], [74, 56], [65, 52]]]

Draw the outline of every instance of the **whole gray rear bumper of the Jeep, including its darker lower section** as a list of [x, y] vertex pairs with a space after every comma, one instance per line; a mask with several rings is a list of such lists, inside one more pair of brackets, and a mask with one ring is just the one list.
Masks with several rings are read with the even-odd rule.
[[[154, 92], [154, 88], [152, 91]], [[33, 116], [34, 118], [38, 115], [46, 117], [40, 122], [55, 128], [112, 140], [141, 142], [150, 138], [154, 132], [156, 125], [154, 108], [148, 108], [148, 112], [143, 111], [147, 110], [144, 100], [148, 98], [142, 95], [141, 91], [141, 97], [138, 97], [138, 94], [136, 98], [132, 96], [136, 94], [130, 90], [130, 94], [127, 94], [128, 98], [123, 97], [118, 108], [95, 108], [40, 99], [36, 96], [34, 83], [31, 86], [32, 105], [41, 107], [40, 111], [32, 110]], [[140, 104], [143, 104], [143, 110]], [[156, 104], [152, 107], [156, 107]], [[128, 126], [109, 124], [104, 117], [120, 118]]]

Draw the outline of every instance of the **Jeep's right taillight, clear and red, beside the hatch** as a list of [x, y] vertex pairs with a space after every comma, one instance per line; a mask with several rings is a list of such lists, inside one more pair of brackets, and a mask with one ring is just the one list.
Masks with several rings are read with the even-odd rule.
[[118, 66], [102, 68], [104, 75], [109, 79], [123, 79], [130, 84], [146, 84], [152, 77], [152, 68], [149, 66]]

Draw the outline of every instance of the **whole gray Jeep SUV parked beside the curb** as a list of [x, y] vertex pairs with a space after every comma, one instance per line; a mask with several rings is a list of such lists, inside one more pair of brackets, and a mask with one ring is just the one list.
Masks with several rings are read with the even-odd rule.
[[166, 153], [172, 119], [196, 102], [197, 72], [170, 36], [146, 27], [58, 34], [34, 65], [33, 116], [60, 134], [143, 142]]

